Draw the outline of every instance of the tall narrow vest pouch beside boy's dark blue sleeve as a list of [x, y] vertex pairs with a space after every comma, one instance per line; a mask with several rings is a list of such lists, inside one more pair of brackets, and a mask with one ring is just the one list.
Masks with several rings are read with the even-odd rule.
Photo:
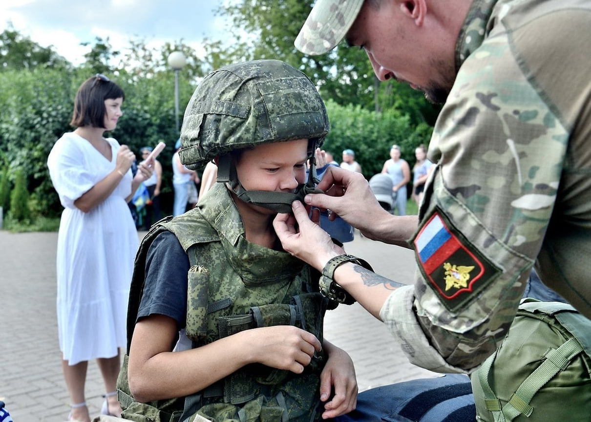
[[207, 302], [209, 272], [201, 265], [193, 265], [187, 272], [187, 336], [201, 342], [207, 335]]

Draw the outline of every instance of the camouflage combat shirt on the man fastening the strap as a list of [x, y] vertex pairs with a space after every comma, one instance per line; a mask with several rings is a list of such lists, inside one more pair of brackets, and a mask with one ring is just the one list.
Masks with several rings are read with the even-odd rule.
[[[462, 34], [415, 285], [381, 310], [410, 361], [439, 372], [473, 371], [498, 348], [534, 263], [591, 316], [591, 1], [475, 1]], [[457, 249], [433, 263], [420, 248], [435, 222]]]

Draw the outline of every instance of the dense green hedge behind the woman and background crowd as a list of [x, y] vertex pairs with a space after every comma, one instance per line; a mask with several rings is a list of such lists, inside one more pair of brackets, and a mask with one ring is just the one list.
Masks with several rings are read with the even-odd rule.
[[[96, 72], [95, 72], [96, 73]], [[92, 71], [86, 69], [35, 69], [0, 73], [0, 199], [5, 198], [6, 184], [13, 186], [18, 169], [22, 169], [30, 193], [31, 217], [55, 217], [61, 213], [59, 198], [51, 185], [47, 155], [54, 142], [66, 131], [72, 116], [77, 87]], [[136, 152], [144, 145], [167, 144], [159, 160], [163, 165], [162, 206], [172, 207], [171, 157], [178, 138], [174, 116], [174, 74], [155, 73], [150, 78], [136, 78], [119, 73], [109, 75], [125, 90], [124, 115], [109, 136], [129, 145]], [[180, 121], [194, 87], [180, 77]], [[363, 174], [369, 178], [381, 171], [389, 158], [392, 144], [401, 146], [402, 157], [411, 167], [414, 148], [427, 144], [431, 126], [413, 126], [406, 115], [395, 110], [371, 112], [359, 106], [340, 106], [327, 101], [331, 131], [323, 148], [332, 151], [340, 161], [342, 150], [352, 148]], [[4, 163], [4, 164], [3, 164]]]

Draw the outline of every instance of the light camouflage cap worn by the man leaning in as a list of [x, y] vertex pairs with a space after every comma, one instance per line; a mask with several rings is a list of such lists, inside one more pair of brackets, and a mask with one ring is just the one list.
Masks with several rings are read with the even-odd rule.
[[345, 37], [362, 5], [363, 0], [317, 0], [294, 46], [306, 54], [332, 50]]

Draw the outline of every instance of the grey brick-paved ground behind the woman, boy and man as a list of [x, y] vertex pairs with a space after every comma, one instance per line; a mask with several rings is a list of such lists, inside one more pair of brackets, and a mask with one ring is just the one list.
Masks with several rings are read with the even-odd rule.
[[[69, 411], [57, 342], [56, 245], [57, 233], [0, 231], [0, 400], [15, 422], [63, 422]], [[358, 232], [346, 249], [379, 274], [410, 283], [411, 251], [361, 238]], [[360, 391], [436, 375], [410, 365], [385, 326], [359, 304], [327, 313], [324, 333], [349, 352]], [[98, 366], [90, 362], [86, 400], [91, 415], [99, 413], [103, 392]]]

